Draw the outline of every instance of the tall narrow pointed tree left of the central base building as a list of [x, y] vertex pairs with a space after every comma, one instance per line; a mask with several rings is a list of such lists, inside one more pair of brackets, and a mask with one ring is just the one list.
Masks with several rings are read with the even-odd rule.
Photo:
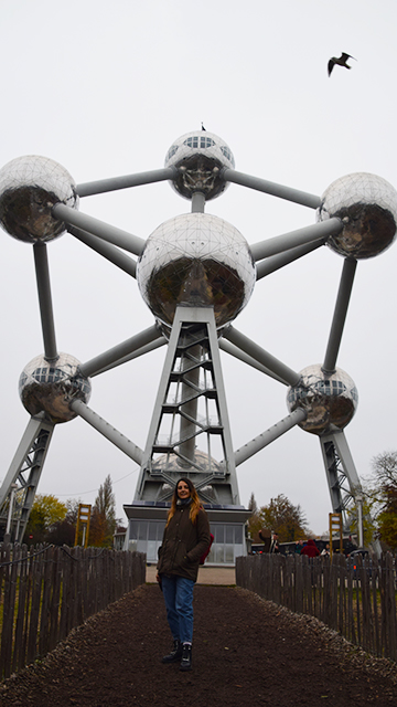
[[111, 547], [112, 536], [116, 529], [116, 498], [111, 487], [110, 474], [99, 486], [95, 499], [90, 523], [89, 545], [96, 547]]

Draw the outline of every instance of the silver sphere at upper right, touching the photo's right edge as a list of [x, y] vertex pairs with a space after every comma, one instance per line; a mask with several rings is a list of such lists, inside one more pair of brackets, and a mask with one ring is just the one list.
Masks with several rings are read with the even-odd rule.
[[376, 175], [346, 175], [332, 182], [321, 198], [316, 220], [332, 217], [342, 220], [343, 230], [331, 235], [328, 245], [343, 256], [373, 257], [395, 239], [397, 191]]

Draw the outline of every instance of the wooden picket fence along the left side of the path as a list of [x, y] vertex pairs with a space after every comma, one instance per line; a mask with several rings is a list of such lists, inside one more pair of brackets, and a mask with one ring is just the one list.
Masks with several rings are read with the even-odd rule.
[[0, 545], [0, 679], [146, 581], [146, 555]]

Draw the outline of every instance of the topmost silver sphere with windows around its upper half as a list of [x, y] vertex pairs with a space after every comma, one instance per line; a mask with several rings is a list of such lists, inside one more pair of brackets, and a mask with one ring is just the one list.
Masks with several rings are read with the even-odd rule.
[[176, 179], [171, 183], [186, 199], [191, 199], [195, 191], [204, 193], [206, 200], [218, 197], [227, 187], [221, 170], [234, 166], [230, 148], [221, 137], [206, 130], [182, 135], [171, 145], [165, 157], [165, 167], [179, 169]]

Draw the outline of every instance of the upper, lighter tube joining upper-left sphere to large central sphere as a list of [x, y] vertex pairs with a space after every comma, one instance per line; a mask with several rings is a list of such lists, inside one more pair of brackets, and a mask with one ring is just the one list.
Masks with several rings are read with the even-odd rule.
[[76, 225], [78, 229], [83, 229], [83, 231], [88, 231], [88, 233], [93, 233], [93, 235], [97, 235], [108, 243], [118, 245], [125, 251], [133, 253], [133, 255], [140, 255], [143, 250], [144, 240], [138, 235], [133, 235], [121, 229], [116, 229], [109, 223], [104, 223], [104, 221], [99, 221], [99, 219], [94, 219], [94, 217], [76, 211], [76, 209], [71, 209], [71, 207], [66, 207], [64, 203], [56, 203], [52, 209], [52, 213], [55, 219], [64, 221], [69, 225]]

